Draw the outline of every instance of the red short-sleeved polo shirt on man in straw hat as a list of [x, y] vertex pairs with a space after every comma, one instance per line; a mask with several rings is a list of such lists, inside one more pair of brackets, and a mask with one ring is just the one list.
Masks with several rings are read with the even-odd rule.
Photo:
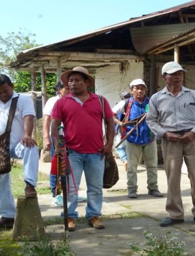
[[[57, 100], [51, 118], [61, 119], [67, 146], [78, 153], [100, 153], [103, 147], [102, 107], [96, 94], [81, 105], [72, 93]], [[108, 101], [104, 98], [105, 118], [113, 117]]]

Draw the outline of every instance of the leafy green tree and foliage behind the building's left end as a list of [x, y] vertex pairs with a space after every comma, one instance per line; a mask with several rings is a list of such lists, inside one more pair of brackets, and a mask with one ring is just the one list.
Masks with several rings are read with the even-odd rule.
[[[31, 73], [27, 71], [16, 71], [9, 64], [17, 59], [19, 52], [40, 46], [35, 41], [35, 34], [20, 28], [17, 33], [9, 32], [3, 38], [0, 35], [0, 72], [6, 74], [14, 83], [17, 93], [26, 93], [31, 90]], [[55, 95], [53, 86], [56, 83], [56, 74], [46, 74], [46, 86], [49, 97]], [[36, 90], [41, 91], [41, 74], [36, 74]]]

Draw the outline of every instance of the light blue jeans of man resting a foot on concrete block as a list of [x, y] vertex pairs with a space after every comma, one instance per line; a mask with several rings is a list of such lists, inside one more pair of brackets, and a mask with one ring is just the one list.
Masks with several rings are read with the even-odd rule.
[[[37, 147], [29, 149], [25, 144], [18, 142], [10, 150], [10, 157], [23, 159], [24, 180], [36, 187], [39, 159]], [[14, 218], [15, 210], [10, 173], [2, 174], [0, 175], [0, 213], [3, 217]]]

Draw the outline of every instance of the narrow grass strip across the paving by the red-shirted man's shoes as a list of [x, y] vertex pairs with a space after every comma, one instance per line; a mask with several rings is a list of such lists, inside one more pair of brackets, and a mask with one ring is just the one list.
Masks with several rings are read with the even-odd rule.
[[[105, 222], [105, 221], [112, 221], [112, 220], [118, 220], [118, 219], [122, 219], [122, 218], [150, 218], [148, 215], [139, 213], [139, 212], [124, 212], [124, 213], [116, 213], [116, 214], [107, 214], [107, 215], [102, 215], [101, 221]], [[86, 223], [87, 220], [85, 217], [80, 217], [76, 223], [78, 224], [84, 224]], [[53, 226], [53, 225], [64, 225], [64, 218], [61, 217], [56, 217], [54, 220], [50, 219], [47, 221], [44, 221], [44, 226]]]

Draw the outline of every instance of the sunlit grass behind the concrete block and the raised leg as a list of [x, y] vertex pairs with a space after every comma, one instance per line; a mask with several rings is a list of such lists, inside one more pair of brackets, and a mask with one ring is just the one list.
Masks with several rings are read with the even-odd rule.
[[[11, 189], [14, 197], [17, 197], [19, 195], [24, 195], [24, 189], [26, 187], [26, 184], [24, 182], [24, 175], [23, 175], [23, 169], [22, 167], [13, 167], [11, 172]], [[38, 175], [38, 181], [47, 181], [47, 179], [41, 177]], [[45, 195], [45, 194], [51, 194], [51, 188], [50, 187], [44, 187], [44, 188], [36, 188], [37, 194]]]

